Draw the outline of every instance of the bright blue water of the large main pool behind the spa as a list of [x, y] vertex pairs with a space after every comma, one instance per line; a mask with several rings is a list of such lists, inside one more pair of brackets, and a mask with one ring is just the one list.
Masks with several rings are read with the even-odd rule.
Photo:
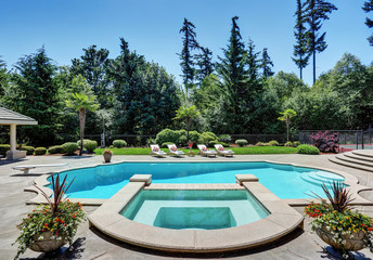
[[234, 183], [235, 174], [254, 174], [280, 198], [309, 198], [311, 192], [323, 195], [323, 182], [344, 181], [326, 171], [269, 162], [123, 162], [60, 174], [67, 174], [68, 182], [76, 178], [67, 193], [72, 198], [110, 198], [133, 174], [152, 174], [153, 183]]

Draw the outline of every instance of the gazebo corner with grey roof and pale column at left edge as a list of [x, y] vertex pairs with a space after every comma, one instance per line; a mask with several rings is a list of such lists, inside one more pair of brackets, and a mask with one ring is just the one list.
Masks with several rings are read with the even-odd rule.
[[26, 151], [16, 150], [16, 126], [17, 125], [38, 125], [34, 118], [24, 116], [16, 112], [0, 106], [0, 125], [11, 126], [11, 150], [7, 152], [7, 159], [18, 159], [26, 157]]

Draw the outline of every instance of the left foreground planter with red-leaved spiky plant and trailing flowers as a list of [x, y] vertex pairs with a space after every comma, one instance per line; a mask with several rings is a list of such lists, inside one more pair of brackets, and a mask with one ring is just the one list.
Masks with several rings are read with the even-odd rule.
[[[52, 176], [52, 198], [44, 191], [36, 186], [47, 199], [47, 205], [39, 205], [17, 225], [21, 235], [15, 240], [18, 250], [15, 259], [27, 248], [34, 251], [50, 252], [57, 250], [67, 242], [73, 243], [79, 223], [85, 220], [85, 212], [79, 203], [66, 199], [65, 193], [72, 185], [67, 185], [67, 176], [60, 183], [60, 176]], [[15, 244], [13, 243], [13, 245]]]

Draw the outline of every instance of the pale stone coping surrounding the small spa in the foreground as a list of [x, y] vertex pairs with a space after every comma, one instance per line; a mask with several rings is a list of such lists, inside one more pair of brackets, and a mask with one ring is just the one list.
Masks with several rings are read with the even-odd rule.
[[[276, 240], [297, 227], [304, 216], [259, 182], [239, 184], [151, 184], [130, 182], [89, 217], [90, 225], [104, 234], [151, 249], [183, 252], [215, 252], [253, 248]], [[247, 190], [271, 213], [253, 223], [221, 230], [171, 230], [131, 221], [119, 211], [141, 190]]]

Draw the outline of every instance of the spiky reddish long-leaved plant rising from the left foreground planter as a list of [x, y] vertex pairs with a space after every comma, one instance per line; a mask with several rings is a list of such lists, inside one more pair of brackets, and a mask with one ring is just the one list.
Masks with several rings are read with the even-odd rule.
[[42, 196], [44, 196], [44, 198], [47, 199], [53, 216], [56, 214], [60, 203], [63, 202], [67, 190], [69, 188], [69, 186], [73, 184], [75, 180], [74, 178], [73, 181], [67, 185], [67, 182], [66, 182], [67, 176], [65, 176], [62, 183], [60, 184], [60, 174], [57, 173], [56, 176], [57, 177], [55, 179], [54, 179], [54, 176], [52, 176], [53, 200], [50, 198], [50, 196], [48, 196], [48, 194], [44, 191], [42, 191], [40, 187], [34, 184], [34, 186], [36, 186], [41, 192]]

